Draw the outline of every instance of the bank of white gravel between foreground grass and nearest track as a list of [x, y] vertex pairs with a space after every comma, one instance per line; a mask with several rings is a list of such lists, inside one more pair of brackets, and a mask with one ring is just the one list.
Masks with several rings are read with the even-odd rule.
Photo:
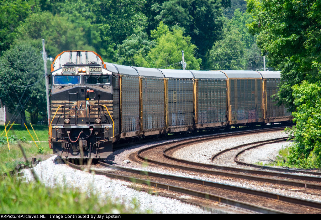
[[[152, 213], [209, 213], [200, 207], [189, 205], [179, 200], [152, 196], [147, 192], [139, 192], [128, 188], [126, 185], [131, 183], [125, 181], [73, 169], [56, 160], [56, 157], [53, 156], [42, 161], [33, 168], [40, 181], [48, 187], [63, 187], [66, 184], [83, 192], [91, 189], [101, 199], [108, 196], [111, 200], [121, 202], [127, 207], [133, 207], [133, 201], [135, 200], [138, 202], [141, 212], [150, 210]], [[23, 172], [27, 181], [34, 180], [29, 169], [24, 169]]]

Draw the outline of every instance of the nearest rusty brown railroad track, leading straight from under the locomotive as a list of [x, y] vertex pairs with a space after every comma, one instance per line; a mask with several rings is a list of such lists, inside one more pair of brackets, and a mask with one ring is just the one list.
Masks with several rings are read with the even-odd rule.
[[[84, 170], [87, 166], [74, 165], [65, 161], [71, 167]], [[99, 175], [110, 178], [145, 184], [150, 187], [174, 191], [245, 208], [259, 213], [321, 213], [321, 203], [291, 198], [275, 193], [247, 189], [244, 187], [215, 183], [174, 175], [165, 175], [153, 172], [143, 172], [129, 168], [115, 167], [103, 162], [100, 166], [109, 168], [102, 170], [97, 165], [88, 169]]]

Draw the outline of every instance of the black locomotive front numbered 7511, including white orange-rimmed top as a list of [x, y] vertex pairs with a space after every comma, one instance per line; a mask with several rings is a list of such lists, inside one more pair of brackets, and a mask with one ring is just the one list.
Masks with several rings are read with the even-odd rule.
[[62, 158], [112, 153], [112, 73], [92, 51], [64, 51], [51, 67], [49, 146]]

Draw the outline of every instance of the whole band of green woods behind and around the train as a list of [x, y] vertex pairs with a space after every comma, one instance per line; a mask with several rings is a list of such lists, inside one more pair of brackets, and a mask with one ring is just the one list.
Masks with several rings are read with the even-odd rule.
[[262, 69], [265, 55], [297, 123], [290, 162], [321, 167], [320, 1], [0, 0], [0, 11], [0, 98], [32, 123], [47, 120], [42, 39], [48, 59], [93, 50], [154, 68], [181, 69], [182, 50], [200, 70]]

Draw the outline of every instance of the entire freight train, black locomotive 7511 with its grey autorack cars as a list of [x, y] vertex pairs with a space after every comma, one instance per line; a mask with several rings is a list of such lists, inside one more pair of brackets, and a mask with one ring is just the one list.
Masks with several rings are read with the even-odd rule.
[[144, 68], [64, 51], [48, 80], [49, 147], [64, 159], [107, 158], [120, 140], [293, 118], [274, 102], [278, 71]]

